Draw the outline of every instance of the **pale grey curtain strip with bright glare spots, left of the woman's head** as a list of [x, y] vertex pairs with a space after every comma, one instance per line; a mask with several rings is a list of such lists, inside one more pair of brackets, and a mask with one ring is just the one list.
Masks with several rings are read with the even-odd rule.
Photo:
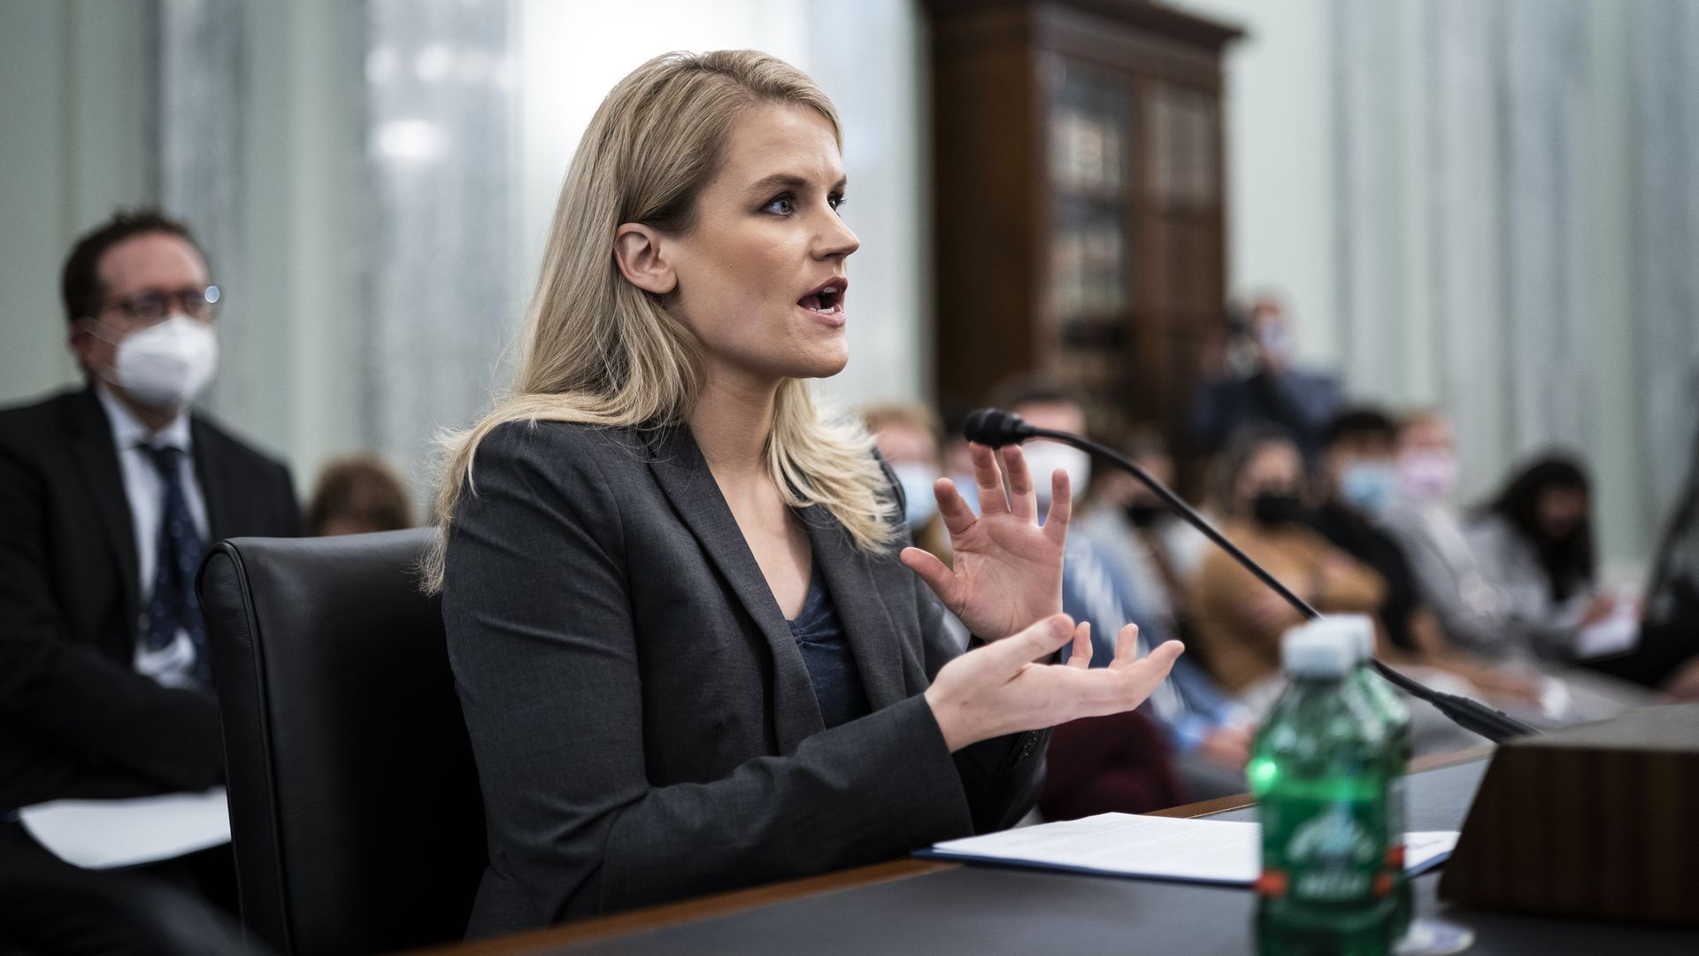
[[433, 439], [505, 384], [515, 68], [506, 0], [367, 0], [358, 202], [360, 439], [421, 497]]

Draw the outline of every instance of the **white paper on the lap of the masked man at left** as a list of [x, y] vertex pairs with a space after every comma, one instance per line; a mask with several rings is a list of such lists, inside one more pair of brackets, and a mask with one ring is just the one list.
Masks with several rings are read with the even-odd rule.
[[54, 800], [17, 811], [36, 842], [87, 869], [138, 866], [229, 842], [224, 788], [131, 800]]

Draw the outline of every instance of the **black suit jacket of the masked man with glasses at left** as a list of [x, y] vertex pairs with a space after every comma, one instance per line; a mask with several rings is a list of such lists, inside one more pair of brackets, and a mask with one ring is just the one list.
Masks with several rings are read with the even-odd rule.
[[[212, 539], [301, 534], [289, 471], [190, 418]], [[204, 789], [217, 703], [136, 674], [136, 532], [93, 390], [0, 412], [0, 808]]]

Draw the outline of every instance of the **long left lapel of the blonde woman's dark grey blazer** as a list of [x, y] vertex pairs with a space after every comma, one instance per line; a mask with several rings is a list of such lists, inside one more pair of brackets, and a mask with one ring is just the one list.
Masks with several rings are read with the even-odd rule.
[[793, 754], [807, 737], [826, 728], [797, 640], [690, 429], [659, 432], [654, 452], [649, 469], [661, 490], [766, 638], [773, 655], [773, 737], [780, 754]]

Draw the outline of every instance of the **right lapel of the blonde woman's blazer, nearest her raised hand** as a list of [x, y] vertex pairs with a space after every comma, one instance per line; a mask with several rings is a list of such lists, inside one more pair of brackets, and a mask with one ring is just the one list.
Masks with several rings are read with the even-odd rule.
[[[838, 619], [844, 624], [856, 670], [861, 672], [866, 703], [875, 711], [889, 708], [906, 696], [902, 648], [897, 623], [892, 621], [882, 599], [885, 589], [873, 573], [873, 560], [856, 551], [843, 526], [824, 507], [810, 507], [802, 519], [809, 529], [809, 541], [814, 543], [814, 561], [826, 575], [826, 587], [838, 607]], [[904, 573], [909, 573], [907, 568]]]

